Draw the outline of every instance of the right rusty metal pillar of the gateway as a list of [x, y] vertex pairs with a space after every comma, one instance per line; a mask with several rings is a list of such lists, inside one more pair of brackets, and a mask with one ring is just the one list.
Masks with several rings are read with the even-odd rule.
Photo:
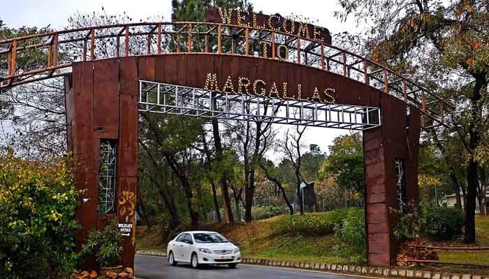
[[[391, 209], [405, 209], [409, 202], [418, 201], [420, 112], [410, 108], [406, 118], [399, 117], [403, 115], [401, 112], [407, 115], [405, 103], [382, 97], [382, 126], [363, 132], [369, 266], [395, 265], [397, 241], [393, 225], [396, 220]], [[402, 164], [401, 173], [396, 171], [396, 161]]]

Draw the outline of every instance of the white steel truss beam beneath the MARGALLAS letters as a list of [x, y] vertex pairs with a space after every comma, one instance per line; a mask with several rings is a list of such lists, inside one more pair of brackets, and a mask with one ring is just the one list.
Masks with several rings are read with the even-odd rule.
[[381, 126], [378, 107], [311, 103], [139, 81], [139, 111], [348, 130]]

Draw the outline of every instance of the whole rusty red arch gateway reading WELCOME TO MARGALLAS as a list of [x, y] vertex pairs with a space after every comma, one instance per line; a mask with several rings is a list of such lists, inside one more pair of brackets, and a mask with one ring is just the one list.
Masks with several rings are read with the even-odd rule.
[[[0, 41], [0, 61], [7, 65], [0, 69], [2, 90], [64, 77], [68, 149], [76, 186], [87, 189], [87, 202], [77, 209], [78, 243], [90, 229], [103, 227], [109, 213], [124, 235], [123, 264], [133, 266], [138, 114], [180, 114], [362, 130], [368, 261], [394, 264], [389, 208], [418, 199], [420, 130], [445, 126], [444, 110], [451, 105], [330, 45], [327, 29], [213, 8], [206, 17]], [[108, 42], [107, 52], [97, 51], [96, 45]], [[17, 57], [31, 50], [45, 59], [22, 68]], [[100, 190], [113, 194], [104, 196], [106, 212], [98, 205]]]

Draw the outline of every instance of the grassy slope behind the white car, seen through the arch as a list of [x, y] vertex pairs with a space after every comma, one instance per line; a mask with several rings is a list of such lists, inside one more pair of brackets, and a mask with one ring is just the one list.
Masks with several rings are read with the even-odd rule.
[[[241, 248], [245, 257], [260, 257], [265, 259], [281, 259], [291, 262], [327, 262], [331, 264], [358, 264], [351, 260], [337, 257], [333, 253], [333, 246], [337, 240], [333, 234], [333, 227], [346, 216], [346, 211], [337, 213], [310, 213], [306, 216], [294, 216], [294, 220], [305, 221], [300, 224], [310, 227], [310, 222], [321, 219], [328, 228], [307, 231], [299, 226], [296, 230], [285, 233], [277, 227], [288, 223], [291, 216], [275, 216], [273, 218], [254, 221], [248, 224], [228, 226], [224, 224], [203, 224], [199, 229], [212, 230], [226, 236], [227, 239]], [[137, 250], [166, 250], [166, 244], [159, 241], [162, 232], [159, 228], [146, 229], [138, 227], [136, 241]]]

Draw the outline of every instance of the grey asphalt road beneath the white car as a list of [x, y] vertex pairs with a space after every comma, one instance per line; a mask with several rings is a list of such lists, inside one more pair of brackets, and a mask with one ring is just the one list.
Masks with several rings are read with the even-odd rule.
[[138, 279], [357, 279], [334, 273], [280, 269], [266, 266], [238, 264], [236, 269], [225, 266], [206, 266], [192, 269], [189, 264], [170, 266], [166, 257], [136, 255], [135, 271]]

